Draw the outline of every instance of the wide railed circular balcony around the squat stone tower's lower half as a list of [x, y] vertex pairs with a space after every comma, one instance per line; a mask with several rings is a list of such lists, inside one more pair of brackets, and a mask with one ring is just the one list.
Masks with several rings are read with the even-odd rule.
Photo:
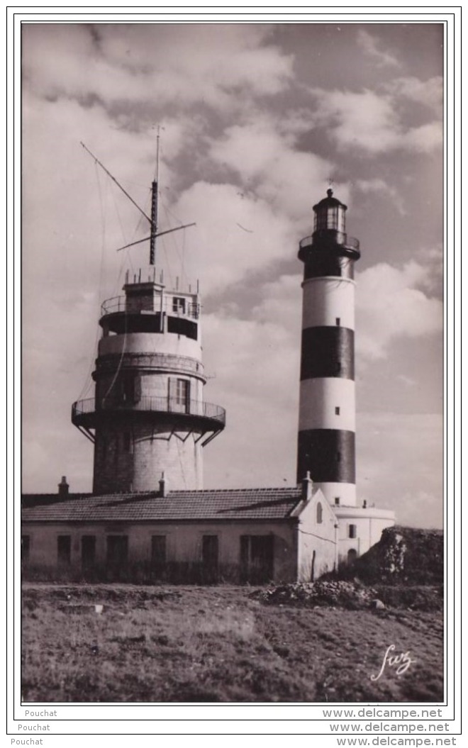
[[176, 397], [150, 397], [124, 400], [108, 398], [103, 401], [89, 398], [77, 400], [72, 405], [72, 423], [84, 429], [94, 429], [108, 417], [148, 417], [176, 421], [186, 425], [221, 431], [226, 426], [226, 411], [220, 405], [199, 400], [181, 402]]

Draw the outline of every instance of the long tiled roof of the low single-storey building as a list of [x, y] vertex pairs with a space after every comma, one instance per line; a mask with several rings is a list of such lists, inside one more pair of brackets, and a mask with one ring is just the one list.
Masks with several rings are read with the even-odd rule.
[[300, 488], [244, 488], [228, 491], [84, 495], [47, 506], [22, 509], [22, 521], [170, 521], [285, 519], [301, 501]]

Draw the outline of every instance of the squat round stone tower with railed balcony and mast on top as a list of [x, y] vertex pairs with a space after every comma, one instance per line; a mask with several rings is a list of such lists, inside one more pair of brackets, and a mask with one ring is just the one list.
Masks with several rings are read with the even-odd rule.
[[123, 295], [103, 302], [95, 394], [72, 407], [94, 444], [93, 494], [203, 488], [203, 447], [226, 420], [203, 399], [198, 283], [156, 276], [156, 238], [177, 229], [158, 233], [157, 180], [152, 190], [150, 266], [127, 271]]

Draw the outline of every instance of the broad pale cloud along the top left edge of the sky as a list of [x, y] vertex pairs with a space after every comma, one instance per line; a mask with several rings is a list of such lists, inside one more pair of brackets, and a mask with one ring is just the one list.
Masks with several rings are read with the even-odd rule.
[[268, 26], [254, 25], [31, 24], [23, 33], [25, 85], [39, 96], [97, 97], [124, 110], [139, 102], [153, 114], [167, 104], [238, 108], [292, 79], [292, 56], [261, 43], [267, 34]]

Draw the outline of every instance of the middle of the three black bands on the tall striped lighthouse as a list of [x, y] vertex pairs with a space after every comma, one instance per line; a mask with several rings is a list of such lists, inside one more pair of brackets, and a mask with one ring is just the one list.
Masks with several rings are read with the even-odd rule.
[[301, 380], [315, 377], [354, 379], [354, 331], [313, 327], [302, 331]]

